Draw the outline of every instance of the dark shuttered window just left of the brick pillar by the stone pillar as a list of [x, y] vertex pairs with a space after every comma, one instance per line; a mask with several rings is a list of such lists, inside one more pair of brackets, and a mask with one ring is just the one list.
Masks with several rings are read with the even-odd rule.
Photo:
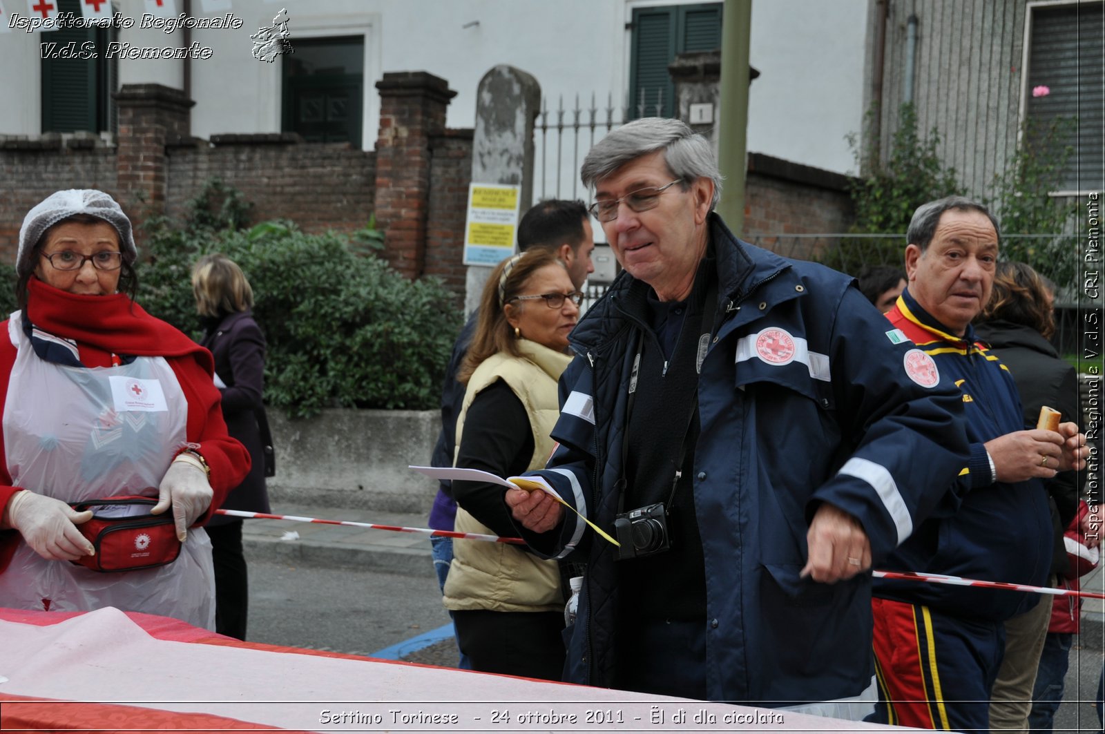
[[295, 41], [285, 54], [283, 127], [311, 143], [360, 147], [365, 36]]

